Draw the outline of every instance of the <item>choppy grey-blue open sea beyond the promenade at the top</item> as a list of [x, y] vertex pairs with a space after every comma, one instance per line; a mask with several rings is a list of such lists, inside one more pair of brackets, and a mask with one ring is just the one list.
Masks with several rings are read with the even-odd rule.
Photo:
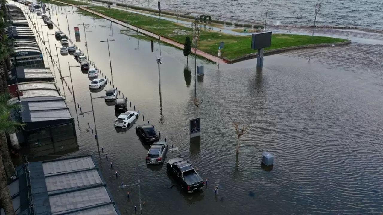
[[[157, 0], [115, 0], [157, 9]], [[160, 0], [162, 10], [200, 12], [280, 25], [312, 25], [318, 0]], [[381, 0], [319, 0], [317, 25], [383, 29]]]

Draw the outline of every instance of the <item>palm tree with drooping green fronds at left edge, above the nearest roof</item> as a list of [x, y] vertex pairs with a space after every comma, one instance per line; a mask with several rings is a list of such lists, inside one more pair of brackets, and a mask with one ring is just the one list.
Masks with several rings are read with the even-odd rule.
[[21, 110], [20, 104], [8, 103], [10, 98], [11, 96], [8, 93], [0, 94], [0, 119], [2, 120], [0, 124], [0, 150], [2, 151], [3, 164], [8, 178], [11, 178], [15, 174], [15, 166], [13, 166], [9, 154], [6, 135], [15, 133], [24, 125], [10, 119], [11, 111], [18, 112]]

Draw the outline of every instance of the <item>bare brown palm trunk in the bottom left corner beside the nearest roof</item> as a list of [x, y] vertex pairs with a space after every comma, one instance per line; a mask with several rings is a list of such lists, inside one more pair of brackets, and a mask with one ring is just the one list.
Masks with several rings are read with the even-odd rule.
[[3, 155], [0, 153], [0, 204], [6, 215], [15, 215], [11, 194], [8, 190], [7, 177], [3, 168]]

